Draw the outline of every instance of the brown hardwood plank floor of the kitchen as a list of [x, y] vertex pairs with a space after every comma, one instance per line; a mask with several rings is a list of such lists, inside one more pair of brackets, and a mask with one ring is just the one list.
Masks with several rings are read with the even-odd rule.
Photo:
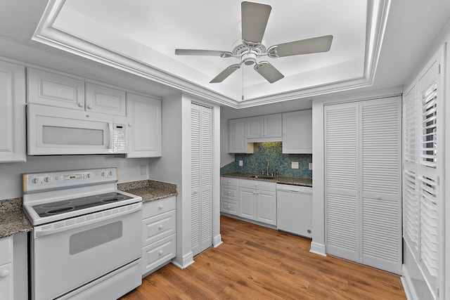
[[221, 237], [185, 270], [170, 263], [122, 300], [406, 299], [398, 275], [311, 254], [306, 238], [226, 216]]

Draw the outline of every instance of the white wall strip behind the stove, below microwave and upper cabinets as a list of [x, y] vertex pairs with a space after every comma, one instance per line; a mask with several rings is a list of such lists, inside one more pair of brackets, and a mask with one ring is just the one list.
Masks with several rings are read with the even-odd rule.
[[117, 167], [122, 183], [148, 179], [148, 173], [141, 175], [142, 165], [147, 167], [148, 159], [114, 155], [27, 156], [27, 162], [0, 164], [0, 200], [22, 197], [23, 173]]

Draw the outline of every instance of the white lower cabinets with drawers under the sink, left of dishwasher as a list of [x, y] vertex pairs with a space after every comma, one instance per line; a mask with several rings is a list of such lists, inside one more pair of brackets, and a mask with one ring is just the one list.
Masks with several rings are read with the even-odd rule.
[[276, 226], [276, 183], [222, 177], [220, 202], [223, 213]]

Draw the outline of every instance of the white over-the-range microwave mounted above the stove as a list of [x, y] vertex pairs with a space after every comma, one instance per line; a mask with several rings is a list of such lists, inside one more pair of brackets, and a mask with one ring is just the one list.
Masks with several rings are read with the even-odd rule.
[[27, 105], [28, 155], [127, 153], [127, 117]]

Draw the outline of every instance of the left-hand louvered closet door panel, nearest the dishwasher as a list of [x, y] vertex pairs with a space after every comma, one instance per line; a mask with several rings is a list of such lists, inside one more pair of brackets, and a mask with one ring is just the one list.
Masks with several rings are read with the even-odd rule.
[[326, 251], [359, 261], [358, 103], [325, 107]]

